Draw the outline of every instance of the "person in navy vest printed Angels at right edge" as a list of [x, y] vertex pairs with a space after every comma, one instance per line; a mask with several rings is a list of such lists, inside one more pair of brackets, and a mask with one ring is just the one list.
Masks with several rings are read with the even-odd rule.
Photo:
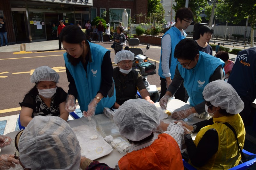
[[231, 84], [244, 102], [240, 112], [244, 125], [250, 122], [251, 103], [256, 98], [256, 46], [244, 49], [237, 54], [228, 83]]

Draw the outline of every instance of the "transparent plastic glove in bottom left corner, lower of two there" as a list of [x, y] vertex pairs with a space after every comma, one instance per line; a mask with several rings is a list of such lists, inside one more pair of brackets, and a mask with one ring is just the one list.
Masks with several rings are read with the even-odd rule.
[[14, 158], [14, 155], [3, 154], [0, 155], [0, 169], [10, 169], [15, 167], [15, 164], [19, 164], [19, 160]]

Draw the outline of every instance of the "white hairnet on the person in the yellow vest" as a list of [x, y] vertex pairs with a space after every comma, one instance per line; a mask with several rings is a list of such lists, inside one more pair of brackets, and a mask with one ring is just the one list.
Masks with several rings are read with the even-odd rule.
[[244, 102], [236, 90], [224, 80], [215, 80], [204, 87], [204, 100], [215, 107], [225, 109], [227, 113], [238, 114], [244, 109]]

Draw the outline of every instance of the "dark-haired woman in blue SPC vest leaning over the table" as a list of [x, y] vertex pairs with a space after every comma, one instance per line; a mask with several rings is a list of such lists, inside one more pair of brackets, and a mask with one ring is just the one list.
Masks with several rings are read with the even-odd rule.
[[77, 99], [83, 115], [90, 120], [116, 101], [110, 51], [88, 41], [74, 25], [63, 28], [60, 41], [66, 50], [64, 60], [69, 82], [66, 110], [73, 112]]

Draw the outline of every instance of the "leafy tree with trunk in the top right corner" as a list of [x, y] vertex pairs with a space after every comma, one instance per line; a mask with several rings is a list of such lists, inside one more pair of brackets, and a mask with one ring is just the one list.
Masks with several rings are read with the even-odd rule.
[[230, 7], [229, 12], [235, 17], [234, 23], [238, 23], [244, 18], [248, 18], [248, 23], [251, 25], [251, 47], [253, 47], [254, 27], [256, 26], [256, 2], [255, 0], [225, 0]]

